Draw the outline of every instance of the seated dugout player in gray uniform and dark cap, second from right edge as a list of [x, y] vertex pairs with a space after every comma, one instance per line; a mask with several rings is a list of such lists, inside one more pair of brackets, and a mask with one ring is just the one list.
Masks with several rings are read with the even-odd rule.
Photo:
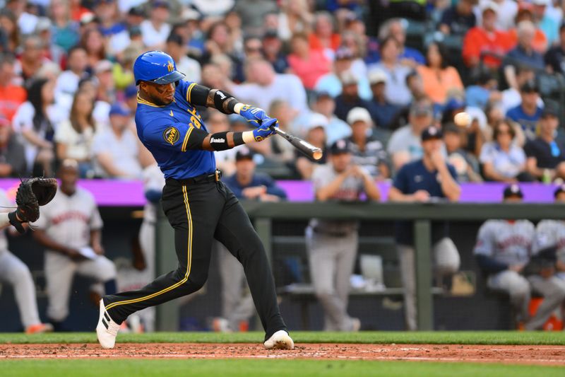
[[[506, 186], [503, 197], [504, 203], [523, 201], [522, 190], [516, 184]], [[530, 269], [536, 256], [543, 253], [533, 250], [534, 240], [535, 227], [528, 220], [487, 220], [479, 228], [473, 250], [477, 264], [487, 275], [487, 286], [509, 294], [518, 328], [524, 330], [542, 330], [545, 321], [565, 300], [565, 284], [552, 276], [552, 267]], [[532, 292], [544, 299], [530, 317]]]

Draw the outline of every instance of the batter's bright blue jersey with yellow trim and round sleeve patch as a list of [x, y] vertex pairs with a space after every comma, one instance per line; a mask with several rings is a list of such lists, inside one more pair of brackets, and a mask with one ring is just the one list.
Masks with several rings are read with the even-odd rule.
[[139, 95], [137, 98], [138, 137], [153, 154], [165, 178], [182, 180], [213, 173], [216, 168], [214, 152], [198, 149], [200, 141], [196, 143], [196, 137], [191, 140], [195, 129], [208, 132], [191, 105], [194, 86], [196, 83], [179, 81], [174, 101], [169, 105], [155, 105]]

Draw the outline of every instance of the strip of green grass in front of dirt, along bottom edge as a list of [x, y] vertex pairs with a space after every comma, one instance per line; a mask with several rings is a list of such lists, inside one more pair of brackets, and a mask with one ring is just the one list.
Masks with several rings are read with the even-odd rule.
[[2, 376], [563, 376], [554, 366], [322, 360], [0, 361]]

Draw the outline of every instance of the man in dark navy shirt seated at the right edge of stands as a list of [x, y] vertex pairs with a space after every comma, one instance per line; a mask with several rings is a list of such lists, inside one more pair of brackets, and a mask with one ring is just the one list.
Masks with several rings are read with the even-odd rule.
[[556, 140], [558, 129], [559, 110], [548, 104], [537, 124], [537, 137], [524, 146], [528, 173], [544, 182], [565, 179], [565, 146]]

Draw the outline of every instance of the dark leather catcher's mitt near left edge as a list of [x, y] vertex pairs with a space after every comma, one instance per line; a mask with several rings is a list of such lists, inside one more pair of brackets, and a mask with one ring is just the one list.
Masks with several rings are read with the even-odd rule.
[[16, 214], [21, 221], [37, 221], [40, 206], [51, 202], [57, 193], [57, 180], [54, 178], [30, 178], [23, 180], [16, 192]]

